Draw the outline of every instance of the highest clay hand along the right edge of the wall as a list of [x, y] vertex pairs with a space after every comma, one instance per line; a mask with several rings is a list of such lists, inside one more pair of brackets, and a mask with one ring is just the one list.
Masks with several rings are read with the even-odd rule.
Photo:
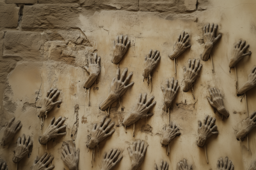
[[241, 59], [243, 59], [244, 56], [252, 54], [252, 52], [244, 53], [250, 46], [250, 45], [246, 45], [246, 46], [244, 46], [244, 45], [245, 45], [245, 41], [243, 41], [243, 43], [241, 43], [241, 40], [239, 40], [236, 43], [236, 45], [234, 46], [233, 51], [232, 51], [232, 59], [230, 59], [230, 62], [229, 62], [230, 68], [235, 67], [236, 64]]

